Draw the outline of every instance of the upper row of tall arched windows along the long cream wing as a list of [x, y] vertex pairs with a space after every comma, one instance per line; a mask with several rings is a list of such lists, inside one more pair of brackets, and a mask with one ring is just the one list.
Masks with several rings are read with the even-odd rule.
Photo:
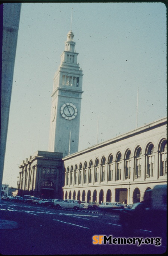
[[[158, 166], [155, 166], [155, 157], [157, 156], [159, 156], [159, 170]], [[144, 161], [145, 166], [142, 166], [143, 157], [146, 157], [146, 161]], [[147, 145], [144, 154], [142, 152], [142, 148], [137, 146], [133, 156], [131, 154], [131, 150], [127, 149], [124, 157], [122, 157], [121, 152], [118, 152], [115, 158], [110, 154], [108, 159], [103, 156], [101, 161], [96, 158], [94, 163], [93, 160], [90, 160], [89, 164], [87, 164], [87, 162], [84, 162], [84, 165], [80, 163], [79, 168], [77, 164], [75, 165], [75, 168], [73, 166], [69, 168], [68, 166], [66, 169], [65, 186], [128, 180], [131, 178], [131, 172], [133, 169], [134, 173], [132, 178], [135, 180], [141, 178], [142, 167], [145, 170], [144, 178], [154, 177], [154, 167], [157, 168], [157, 171], [159, 172], [158, 176], [164, 176], [167, 174], [166, 139], [163, 139], [160, 142], [159, 149], [155, 149], [153, 143], [150, 142]]]

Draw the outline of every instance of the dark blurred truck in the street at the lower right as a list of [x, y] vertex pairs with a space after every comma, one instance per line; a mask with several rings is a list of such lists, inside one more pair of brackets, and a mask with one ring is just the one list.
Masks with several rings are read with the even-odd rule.
[[167, 185], [156, 185], [146, 190], [142, 202], [124, 208], [119, 215], [124, 234], [147, 230], [152, 235], [166, 238], [167, 234]]

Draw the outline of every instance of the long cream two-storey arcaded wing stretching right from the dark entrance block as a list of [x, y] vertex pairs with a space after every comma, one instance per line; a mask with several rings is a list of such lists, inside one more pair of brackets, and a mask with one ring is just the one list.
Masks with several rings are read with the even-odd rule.
[[63, 158], [64, 199], [135, 203], [167, 183], [167, 118]]

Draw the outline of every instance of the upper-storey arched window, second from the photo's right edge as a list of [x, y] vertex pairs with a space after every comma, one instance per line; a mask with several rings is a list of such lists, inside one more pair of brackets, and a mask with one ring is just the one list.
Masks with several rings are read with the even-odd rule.
[[147, 149], [147, 170], [146, 177], [153, 177], [154, 175], [154, 146], [150, 144]]

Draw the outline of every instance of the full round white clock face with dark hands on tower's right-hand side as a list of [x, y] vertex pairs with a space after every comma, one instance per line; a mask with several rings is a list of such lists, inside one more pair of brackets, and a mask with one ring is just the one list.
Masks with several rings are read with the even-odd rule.
[[62, 105], [60, 113], [66, 120], [72, 120], [77, 116], [77, 108], [74, 104], [67, 102]]

